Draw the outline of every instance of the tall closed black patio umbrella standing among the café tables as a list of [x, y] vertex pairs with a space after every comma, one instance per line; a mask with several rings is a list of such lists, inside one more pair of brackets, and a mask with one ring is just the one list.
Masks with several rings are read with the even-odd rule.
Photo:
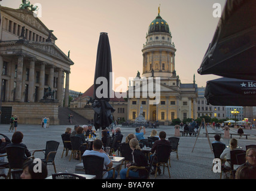
[[[111, 104], [108, 103], [111, 95], [110, 91], [112, 91], [110, 72], [112, 72], [112, 60], [108, 33], [102, 32], [100, 33], [97, 47], [93, 95], [95, 100], [92, 105], [93, 110], [95, 110], [94, 125], [96, 130], [104, 130], [108, 127], [112, 123], [112, 112], [115, 111]], [[97, 80], [99, 80], [100, 84], [98, 84]]]

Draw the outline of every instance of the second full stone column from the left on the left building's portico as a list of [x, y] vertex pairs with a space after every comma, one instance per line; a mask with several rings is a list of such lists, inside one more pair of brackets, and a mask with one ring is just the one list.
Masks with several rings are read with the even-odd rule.
[[35, 58], [31, 58], [29, 65], [29, 91], [28, 91], [28, 101], [33, 102], [33, 94], [35, 91]]

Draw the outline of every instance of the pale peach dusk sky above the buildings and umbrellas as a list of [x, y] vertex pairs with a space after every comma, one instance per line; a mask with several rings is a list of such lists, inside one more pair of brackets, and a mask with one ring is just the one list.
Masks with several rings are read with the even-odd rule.
[[[142, 48], [148, 26], [160, 16], [167, 21], [175, 43], [175, 70], [182, 84], [198, 87], [206, 81], [220, 78], [199, 75], [203, 56], [211, 43], [220, 18], [215, 18], [213, 5], [223, 10], [225, 0], [31, 0], [42, 5], [39, 18], [57, 37], [56, 45], [66, 55], [71, 51], [69, 90], [84, 93], [92, 84], [95, 74], [97, 44], [100, 32], [107, 32], [111, 47], [112, 69], [115, 78], [135, 77], [142, 74]], [[19, 8], [22, 0], [2, 0], [3, 7]], [[115, 85], [118, 87], [118, 84]]]

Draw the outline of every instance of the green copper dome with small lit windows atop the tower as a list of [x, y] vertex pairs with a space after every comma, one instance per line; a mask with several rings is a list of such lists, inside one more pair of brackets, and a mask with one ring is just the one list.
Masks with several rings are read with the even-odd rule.
[[165, 20], [161, 18], [160, 15], [156, 17], [155, 20], [153, 20], [150, 23], [150, 26], [148, 27], [148, 34], [154, 33], [154, 32], [166, 32], [170, 33], [169, 25]]

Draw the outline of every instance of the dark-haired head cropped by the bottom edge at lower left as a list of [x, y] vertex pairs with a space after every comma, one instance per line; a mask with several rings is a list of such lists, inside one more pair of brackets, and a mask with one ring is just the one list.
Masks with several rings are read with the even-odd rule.
[[38, 172], [35, 172], [33, 169], [35, 165], [39, 165], [38, 162], [34, 162], [34, 160], [26, 161], [23, 164], [23, 172], [20, 175], [22, 179], [45, 179], [48, 175], [47, 167], [44, 162], [41, 162], [41, 172], [39, 172], [39, 167], [36, 168]]

